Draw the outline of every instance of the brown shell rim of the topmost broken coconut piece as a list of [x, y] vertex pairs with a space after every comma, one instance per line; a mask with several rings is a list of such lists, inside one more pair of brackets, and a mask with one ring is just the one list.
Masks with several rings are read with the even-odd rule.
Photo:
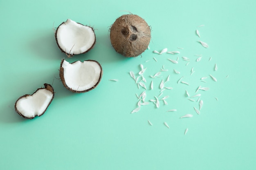
[[[67, 20], [69, 20], [69, 19], [67, 19]], [[66, 53], [66, 55], [67, 55], [68, 57], [72, 57], [72, 56], [78, 55], [78, 54], [71, 54], [70, 51], [71, 51], [72, 49], [71, 49], [70, 51], [64, 51], [64, 50], [61, 48], [60, 44], [58, 43], [58, 38], [57, 38], [57, 33], [58, 33], [59, 27], [60, 27], [61, 25], [65, 24], [65, 23], [67, 22], [67, 20], [66, 20], [65, 22], [62, 22], [62, 23], [57, 27], [57, 29], [56, 29], [56, 31], [55, 31], [55, 33], [54, 33], [54, 37], [55, 37], [56, 43], [57, 43], [57, 45], [58, 45], [58, 48], [61, 50], [61, 52]], [[72, 20], [72, 21], [73, 21], [73, 20]], [[74, 21], [74, 22], [75, 22], [75, 21]], [[81, 24], [80, 22], [76, 22], [76, 23], [77, 23], [77, 24]], [[93, 42], [92, 46], [91, 46], [87, 51], [84, 51], [83, 53], [79, 53], [79, 54], [84, 54], [84, 53], [87, 53], [88, 51], [90, 51], [91, 49], [93, 49], [94, 45], [96, 44], [96, 35], [95, 35], [95, 31], [94, 31], [94, 29], [93, 29], [92, 26], [88, 26], [88, 25], [84, 25], [84, 24], [81, 24], [81, 25], [82, 25], [82, 26], [87, 26], [87, 27], [91, 28], [91, 29], [92, 29], [92, 32], [94, 33], [94, 42]]]

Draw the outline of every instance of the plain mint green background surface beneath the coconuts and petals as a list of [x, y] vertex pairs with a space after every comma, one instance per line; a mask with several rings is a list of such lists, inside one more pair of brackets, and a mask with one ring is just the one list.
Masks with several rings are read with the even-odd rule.
[[[255, 9], [255, 0], [1, 0], [0, 169], [255, 170]], [[123, 57], [110, 44], [109, 26], [127, 11], [152, 27], [150, 49], [142, 57]], [[94, 49], [71, 59], [58, 49], [52, 30], [67, 18], [93, 26], [97, 36]], [[201, 24], [205, 26], [198, 28]], [[181, 53], [153, 53], [164, 48]], [[196, 54], [203, 55], [200, 62], [195, 62]], [[177, 56], [176, 65], [167, 60]], [[191, 59], [188, 66], [182, 56]], [[63, 58], [101, 63], [99, 86], [83, 94], [67, 91], [58, 79]], [[168, 105], [150, 103], [130, 114], [137, 104], [135, 93], [144, 91], [129, 75], [140, 70], [139, 64], [147, 67], [148, 88], [149, 75], [164, 65], [169, 71], [163, 79], [170, 75], [166, 84], [173, 90], [162, 95], [170, 95]], [[200, 82], [209, 74], [218, 81]], [[191, 85], [177, 84], [181, 76]], [[146, 100], [159, 95], [161, 80], [153, 79]], [[43, 116], [23, 119], [14, 110], [15, 101], [44, 83], [53, 84], [52, 104]], [[200, 91], [204, 105], [197, 115], [193, 107], [199, 108], [198, 103], [187, 100], [185, 90], [194, 95], [199, 85], [210, 90]], [[173, 108], [177, 112], [166, 112]], [[187, 113], [194, 116], [179, 119]]]

